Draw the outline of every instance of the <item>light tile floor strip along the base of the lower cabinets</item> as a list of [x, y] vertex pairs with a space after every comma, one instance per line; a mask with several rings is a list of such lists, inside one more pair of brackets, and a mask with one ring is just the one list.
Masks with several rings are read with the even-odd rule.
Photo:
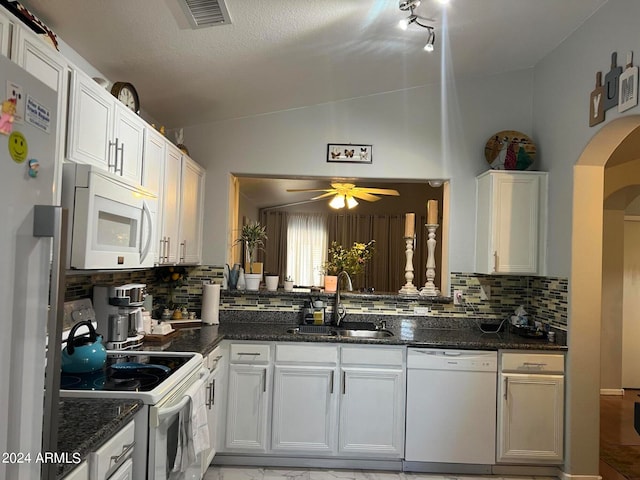
[[[424, 473], [305, 468], [210, 467], [203, 480], [550, 480], [551, 477], [428, 475]], [[554, 479], [555, 480], [555, 479]]]

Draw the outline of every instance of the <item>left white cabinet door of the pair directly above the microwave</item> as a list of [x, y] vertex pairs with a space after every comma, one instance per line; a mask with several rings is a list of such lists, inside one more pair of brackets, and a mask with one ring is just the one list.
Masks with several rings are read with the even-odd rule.
[[91, 78], [72, 72], [69, 97], [67, 158], [114, 171], [115, 145], [111, 142], [114, 99]]

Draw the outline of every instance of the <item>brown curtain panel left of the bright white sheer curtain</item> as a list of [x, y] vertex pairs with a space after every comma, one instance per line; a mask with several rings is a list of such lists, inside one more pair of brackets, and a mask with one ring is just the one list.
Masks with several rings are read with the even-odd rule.
[[260, 223], [266, 227], [267, 240], [258, 259], [264, 262], [264, 272], [280, 275], [280, 283], [287, 274], [287, 212], [266, 211]]

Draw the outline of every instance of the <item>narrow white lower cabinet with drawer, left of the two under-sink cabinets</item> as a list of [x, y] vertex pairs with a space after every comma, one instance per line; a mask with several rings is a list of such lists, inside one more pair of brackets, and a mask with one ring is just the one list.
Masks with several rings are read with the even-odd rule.
[[267, 451], [270, 381], [269, 344], [230, 345], [225, 441], [227, 451]]

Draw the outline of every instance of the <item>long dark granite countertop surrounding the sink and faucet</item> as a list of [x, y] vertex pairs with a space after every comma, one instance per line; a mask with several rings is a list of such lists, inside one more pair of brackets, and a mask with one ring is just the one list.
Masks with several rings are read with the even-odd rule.
[[[233, 315], [232, 315], [233, 316]], [[257, 321], [247, 321], [244, 315], [229, 318], [220, 325], [181, 328], [178, 334], [165, 344], [145, 345], [145, 349], [168, 351], [193, 351], [206, 356], [222, 340], [252, 340], [263, 342], [324, 342], [345, 344], [407, 345], [410, 347], [460, 348], [472, 350], [566, 350], [566, 334], [558, 331], [556, 342], [546, 339], [526, 338], [516, 333], [483, 333], [479, 322], [473, 319], [424, 319], [398, 316], [350, 316], [351, 321], [387, 322], [387, 330], [393, 333], [386, 338], [360, 338], [342, 336], [318, 336], [291, 333], [297, 326], [290, 318], [263, 316]]]

